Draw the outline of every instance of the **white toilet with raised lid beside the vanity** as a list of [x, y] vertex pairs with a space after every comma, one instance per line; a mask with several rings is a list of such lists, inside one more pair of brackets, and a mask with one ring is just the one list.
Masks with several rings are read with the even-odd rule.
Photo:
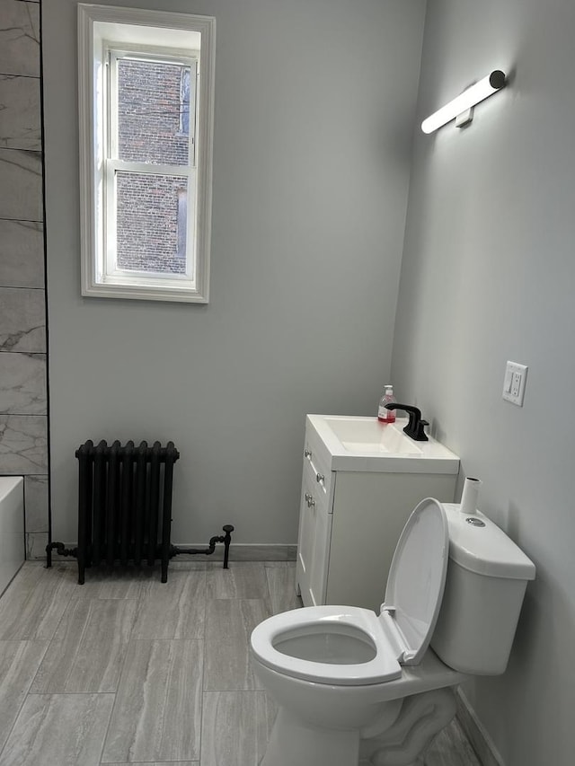
[[261, 766], [422, 764], [455, 715], [457, 684], [504, 672], [534, 577], [486, 516], [422, 500], [395, 548], [379, 615], [313, 606], [253, 630], [255, 673], [279, 706]]

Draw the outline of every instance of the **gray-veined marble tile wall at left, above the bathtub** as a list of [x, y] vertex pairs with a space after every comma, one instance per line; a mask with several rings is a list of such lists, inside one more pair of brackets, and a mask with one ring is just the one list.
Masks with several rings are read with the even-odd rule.
[[40, 4], [0, 4], [0, 474], [23, 475], [26, 553], [48, 539]]

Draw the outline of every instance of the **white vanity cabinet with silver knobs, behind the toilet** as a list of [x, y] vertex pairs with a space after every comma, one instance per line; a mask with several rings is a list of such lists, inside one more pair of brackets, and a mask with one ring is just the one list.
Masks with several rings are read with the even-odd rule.
[[[378, 612], [403, 525], [424, 497], [454, 501], [459, 460], [433, 440], [415, 445], [413, 454], [342, 443], [326, 430], [326, 420], [343, 419], [306, 418], [296, 587], [305, 606]], [[406, 421], [396, 422], [399, 429]]]

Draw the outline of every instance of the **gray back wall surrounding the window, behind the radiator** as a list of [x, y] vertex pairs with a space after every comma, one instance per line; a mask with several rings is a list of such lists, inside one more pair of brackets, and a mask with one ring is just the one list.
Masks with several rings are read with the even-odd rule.
[[104, 437], [180, 449], [174, 541], [294, 543], [305, 413], [389, 375], [423, 0], [163, 4], [217, 19], [207, 306], [79, 295], [75, 5], [43, 22], [54, 539]]

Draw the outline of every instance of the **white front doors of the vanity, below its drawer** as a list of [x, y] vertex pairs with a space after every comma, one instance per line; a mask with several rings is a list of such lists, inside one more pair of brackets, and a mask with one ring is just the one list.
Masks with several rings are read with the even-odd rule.
[[297, 541], [296, 578], [305, 606], [325, 603], [332, 515], [315, 474], [304, 462]]

